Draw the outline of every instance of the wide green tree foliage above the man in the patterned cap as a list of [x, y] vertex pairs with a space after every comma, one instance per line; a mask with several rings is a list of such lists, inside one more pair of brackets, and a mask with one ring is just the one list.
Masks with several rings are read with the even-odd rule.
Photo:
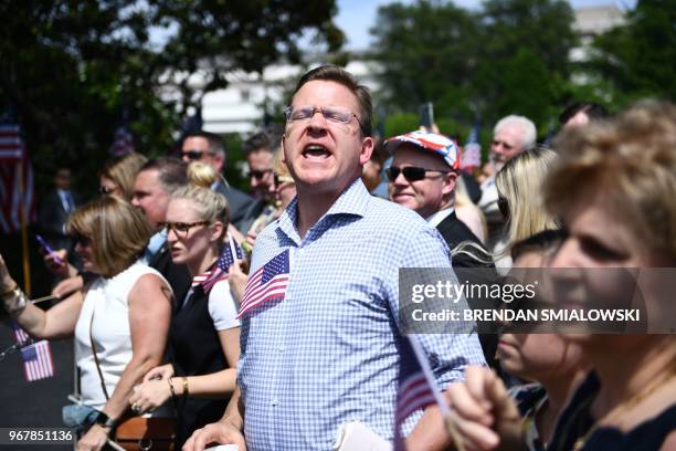
[[572, 21], [563, 0], [488, 0], [476, 12], [441, 0], [381, 7], [372, 34], [383, 95], [409, 112], [434, 102], [437, 122], [465, 129], [511, 113], [545, 123], [567, 93]]

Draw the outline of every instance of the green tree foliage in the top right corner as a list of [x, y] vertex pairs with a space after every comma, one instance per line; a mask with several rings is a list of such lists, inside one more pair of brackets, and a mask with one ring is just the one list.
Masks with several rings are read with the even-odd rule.
[[594, 40], [589, 70], [608, 84], [611, 103], [676, 98], [675, 24], [675, 0], [640, 0], [624, 25]]

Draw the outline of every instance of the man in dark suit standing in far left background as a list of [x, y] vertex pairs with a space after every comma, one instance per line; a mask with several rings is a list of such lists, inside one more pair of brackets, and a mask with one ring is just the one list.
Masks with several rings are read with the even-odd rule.
[[71, 190], [71, 169], [59, 168], [54, 175], [55, 189], [40, 202], [38, 227], [40, 233], [55, 250], [65, 249], [74, 256], [73, 241], [65, 233], [68, 217], [80, 204], [80, 198]]

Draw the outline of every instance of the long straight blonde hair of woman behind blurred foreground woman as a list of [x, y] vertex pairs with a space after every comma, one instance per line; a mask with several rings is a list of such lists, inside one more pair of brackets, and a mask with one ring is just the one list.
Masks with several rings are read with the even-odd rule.
[[541, 195], [556, 158], [553, 150], [536, 147], [507, 161], [497, 174], [495, 185], [509, 208], [508, 245], [558, 227], [554, 217], [545, 208]]

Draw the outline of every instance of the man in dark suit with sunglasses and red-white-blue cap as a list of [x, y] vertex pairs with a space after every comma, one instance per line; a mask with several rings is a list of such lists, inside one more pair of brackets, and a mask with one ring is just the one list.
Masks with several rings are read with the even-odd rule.
[[[452, 139], [429, 132], [411, 132], [385, 141], [392, 156], [387, 171], [390, 199], [418, 212], [436, 227], [452, 251], [451, 264], [460, 281], [490, 284], [497, 279], [492, 255], [454, 211], [460, 154]], [[493, 308], [490, 300], [467, 298], [473, 308]], [[479, 324], [479, 331], [494, 325]], [[486, 361], [495, 366], [497, 335], [479, 333]]]

